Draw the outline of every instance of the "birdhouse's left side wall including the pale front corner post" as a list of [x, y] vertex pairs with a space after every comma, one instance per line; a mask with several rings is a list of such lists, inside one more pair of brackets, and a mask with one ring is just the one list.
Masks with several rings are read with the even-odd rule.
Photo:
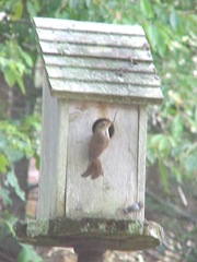
[[67, 111], [67, 103], [51, 97], [45, 81], [37, 218], [55, 218], [65, 214]]

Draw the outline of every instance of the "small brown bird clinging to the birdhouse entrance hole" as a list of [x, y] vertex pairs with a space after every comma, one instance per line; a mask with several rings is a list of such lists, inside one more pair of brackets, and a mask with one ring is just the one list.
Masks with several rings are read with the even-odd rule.
[[114, 134], [114, 126], [111, 120], [101, 118], [94, 122], [92, 131], [93, 134], [89, 143], [89, 166], [81, 176], [90, 176], [91, 179], [95, 179], [104, 175], [100, 156], [109, 144]]

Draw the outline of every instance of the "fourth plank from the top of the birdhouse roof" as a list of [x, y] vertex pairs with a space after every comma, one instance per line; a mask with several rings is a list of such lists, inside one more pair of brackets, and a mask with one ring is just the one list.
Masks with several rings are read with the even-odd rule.
[[106, 71], [119, 71], [120, 69], [126, 72], [155, 74], [153, 63], [147, 62], [132, 62], [130, 60], [118, 59], [101, 59], [101, 58], [80, 58], [80, 57], [62, 57], [62, 56], [44, 56], [45, 63], [50, 67], [67, 67], [67, 68], [81, 68], [81, 69], [97, 69]]

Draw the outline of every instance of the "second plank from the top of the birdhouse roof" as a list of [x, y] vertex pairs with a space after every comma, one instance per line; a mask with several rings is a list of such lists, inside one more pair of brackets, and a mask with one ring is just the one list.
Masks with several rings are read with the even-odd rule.
[[106, 35], [94, 32], [54, 31], [50, 28], [37, 28], [37, 34], [42, 41], [149, 49], [149, 44], [144, 36]]

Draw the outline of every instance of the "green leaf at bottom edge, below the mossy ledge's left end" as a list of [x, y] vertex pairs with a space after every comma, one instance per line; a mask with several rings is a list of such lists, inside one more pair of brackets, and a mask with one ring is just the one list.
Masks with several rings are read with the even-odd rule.
[[18, 262], [42, 262], [43, 259], [35, 252], [32, 246], [21, 245], [22, 250], [18, 255]]

